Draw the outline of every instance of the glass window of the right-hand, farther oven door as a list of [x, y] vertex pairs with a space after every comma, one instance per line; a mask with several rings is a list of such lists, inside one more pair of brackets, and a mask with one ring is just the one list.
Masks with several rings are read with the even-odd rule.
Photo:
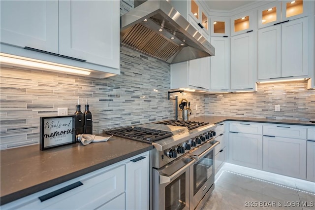
[[213, 174], [213, 150], [193, 165], [193, 195]]

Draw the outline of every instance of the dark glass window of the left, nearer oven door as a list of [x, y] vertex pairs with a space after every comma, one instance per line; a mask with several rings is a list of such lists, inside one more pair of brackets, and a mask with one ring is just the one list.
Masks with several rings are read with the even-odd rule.
[[186, 173], [165, 187], [165, 210], [182, 210], [186, 206]]

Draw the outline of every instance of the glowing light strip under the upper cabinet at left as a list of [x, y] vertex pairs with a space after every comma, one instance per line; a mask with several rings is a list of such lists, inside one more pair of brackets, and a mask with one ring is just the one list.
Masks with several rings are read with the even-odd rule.
[[62, 71], [82, 75], [90, 75], [91, 71], [78, 67], [71, 67], [63, 64], [56, 64], [47, 61], [40, 61], [32, 58], [25, 58], [15, 55], [0, 53], [0, 64], [16, 67], [32, 68], [36, 70]]

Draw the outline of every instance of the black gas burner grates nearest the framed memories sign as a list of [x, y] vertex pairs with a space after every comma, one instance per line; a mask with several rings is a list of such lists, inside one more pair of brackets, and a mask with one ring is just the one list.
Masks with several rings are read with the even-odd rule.
[[173, 136], [172, 132], [169, 131], [160, 131], [151, 128], [141, 128], [133, 126], [108, 130], [105, 133], [114, 135], [116, 137], [122, 137], [130, 140], [138, 140], [146, 143], [151, 143], [153, 141], [162, 140], [167, 137]]

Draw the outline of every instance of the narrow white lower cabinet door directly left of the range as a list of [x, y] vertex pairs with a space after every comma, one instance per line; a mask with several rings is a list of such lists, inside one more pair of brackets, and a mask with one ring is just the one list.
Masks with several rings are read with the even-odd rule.
[[141, 155], [126, 163], [126, 209], [149, 209], [149, 158]]

